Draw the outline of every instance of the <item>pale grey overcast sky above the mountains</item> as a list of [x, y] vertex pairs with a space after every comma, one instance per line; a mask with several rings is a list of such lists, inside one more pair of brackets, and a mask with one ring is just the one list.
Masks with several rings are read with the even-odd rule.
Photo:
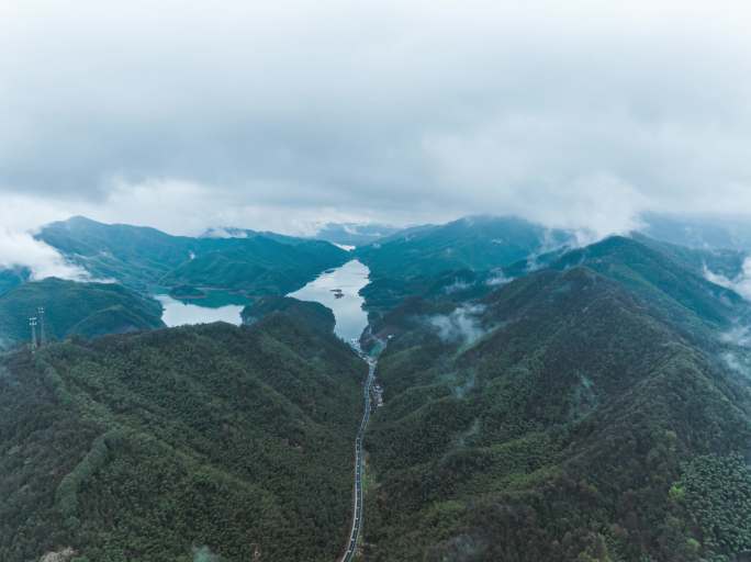
[[172, 233], [751, 215], [746, 4], [4, 0], [0, 262], [70, 214]]

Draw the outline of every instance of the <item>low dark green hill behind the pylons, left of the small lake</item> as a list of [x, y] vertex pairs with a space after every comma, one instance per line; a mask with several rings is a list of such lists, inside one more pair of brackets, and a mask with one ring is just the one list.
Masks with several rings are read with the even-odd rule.
[[48, 278], [0, 295], [2, 347], [29, 341], [29, 317], [45, 308], [48, 338], [122, 334], [162, 327], [161, 305], [114, 283], [77, 283]]

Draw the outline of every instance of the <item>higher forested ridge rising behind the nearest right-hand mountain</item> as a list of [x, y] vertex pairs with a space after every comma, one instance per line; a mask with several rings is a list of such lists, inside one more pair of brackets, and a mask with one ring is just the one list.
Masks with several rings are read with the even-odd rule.
[[[729, 329], [751, 314], [751, 307], [730, 289], [706, 279], [707, 270], [733, 277], [744, 255], [736, 250], [698, 250], [652, 240], [641, 235], [610, 236], [580, 248], [565, 246], [492, 270], [453, 270], [408, 280], [375, 279], [362, 290], [374, 333], [399, 330], [405, 299], [463, 302], [481, 299], [498, 286], [540, 269], [565, 270], [585, 266], [644, 296], [659, 301], [676, 327], [696, 335]], [[424, 305], [423, 305], [424, 306]]]

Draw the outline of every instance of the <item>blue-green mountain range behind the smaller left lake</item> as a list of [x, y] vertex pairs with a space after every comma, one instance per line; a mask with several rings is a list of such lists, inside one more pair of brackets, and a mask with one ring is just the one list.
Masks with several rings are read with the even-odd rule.
[[247, 296], [285, 294], [349, 258], [325, 241], [251, 231], [242, 235], [190, 238], [74, 217], [47, 225], [38, 237], [94, 278], [142, 292], [187, 285]]

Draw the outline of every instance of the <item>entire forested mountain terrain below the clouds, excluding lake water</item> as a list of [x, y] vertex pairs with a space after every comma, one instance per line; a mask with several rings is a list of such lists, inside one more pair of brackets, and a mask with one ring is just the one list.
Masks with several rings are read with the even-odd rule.
[[[1, 561], [749, 560], [751, 248], [329, 231], [77, 217], [37, 236], [88, 278], [0, 271]], [[352, 260], [354, 342], [289, 296]]]

